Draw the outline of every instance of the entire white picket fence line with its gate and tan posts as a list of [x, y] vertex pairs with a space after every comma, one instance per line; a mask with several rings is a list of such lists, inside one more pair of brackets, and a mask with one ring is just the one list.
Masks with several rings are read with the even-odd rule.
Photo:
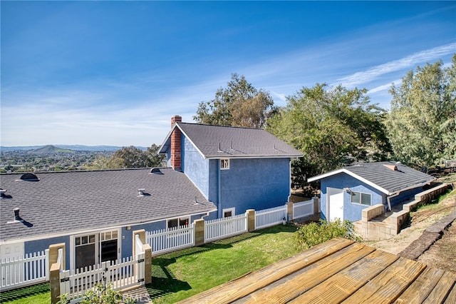
[[[183, 248], [211, 243], [261, 228], [312, 216], [320, 212], [318, 198], [261, 211], [248, 210], [244, 214], [211, 221], [199, 219], [189, 226], [164, 230], [133, 231], [133, 255], [122, 260], [107, 261], [78, 270], [63, 269], [65, 243], [49, 246], [44, 258], [40, 255], [1, 260], [0, 271], [8, 289], [49, 281], [51, 303], [62, 295], [70, 303], [77, 303], [90, 288], [97, 284], [112, 285], [115, 290], [135, 288], [152, 283], [152, 255], [161, 255]], [[18, 270], [19, 269], [19, 270]], [[14, 273], [24, 273], [20, 278]], [[37, 274], [36, 276], [35, 273]], [[1, 290], [6, 290], [3, 287]]]

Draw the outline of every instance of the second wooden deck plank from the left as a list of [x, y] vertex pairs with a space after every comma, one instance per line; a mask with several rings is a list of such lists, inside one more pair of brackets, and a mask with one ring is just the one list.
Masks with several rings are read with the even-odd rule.
[[374, 250], [366, 245], [355, 243], [234, 303], [287, 303]]

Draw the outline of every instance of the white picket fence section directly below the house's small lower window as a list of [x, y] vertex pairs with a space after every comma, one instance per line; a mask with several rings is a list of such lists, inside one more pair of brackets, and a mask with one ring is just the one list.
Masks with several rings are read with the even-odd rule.
[[204, 243], [247, 232], [247, 215], [204, 221]]

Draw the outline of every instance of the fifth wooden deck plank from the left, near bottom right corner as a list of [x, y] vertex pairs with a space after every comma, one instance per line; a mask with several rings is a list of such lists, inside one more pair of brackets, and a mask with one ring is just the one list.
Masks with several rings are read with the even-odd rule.
[[427, 267], [402, 295], [395, 300], [395, 304], [420, 304], [427, 298], [435, 285], [442, 278], [445, 270]]

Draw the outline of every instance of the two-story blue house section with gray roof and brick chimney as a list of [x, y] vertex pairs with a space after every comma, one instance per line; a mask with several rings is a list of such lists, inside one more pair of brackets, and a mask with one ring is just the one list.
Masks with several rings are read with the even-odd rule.
[[291, 161], [300, 151], [262, 129], [183, 123], [180, 116], [171, 125], [159, 153], [217, 206], [219, 218], [289, 201]]

